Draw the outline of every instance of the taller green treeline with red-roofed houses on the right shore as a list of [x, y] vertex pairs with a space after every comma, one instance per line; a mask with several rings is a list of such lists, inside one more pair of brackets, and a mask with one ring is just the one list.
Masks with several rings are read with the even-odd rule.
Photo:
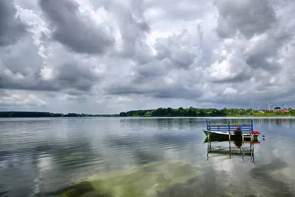
[[[158, 109], [148, 109], [148, 110], [134, 110], [121, 112], [119, 116], [273, 116], [273, 115], [289, 115], [295, 114], [294, 110], [290, 110], [288, 113], [281, 112], [271, 112], [268, 110], [253, 110], [249, 109], [238, 109], [238, 108], [183, 108], [179, 107], [178, 109], [168, 108], [158, 108]], [[263, 112], [263, 113], [262, 113]]]

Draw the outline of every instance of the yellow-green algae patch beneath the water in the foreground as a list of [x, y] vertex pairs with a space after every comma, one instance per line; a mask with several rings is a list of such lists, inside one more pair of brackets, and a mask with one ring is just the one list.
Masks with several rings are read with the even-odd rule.
[[[152, 170], [147, 170], [152, 169]], [[198, 171], [183, 162], [154, 162], [93, 175], [59, 192], [61, 197], [153, 197], [169, 185], [185, 183]]]

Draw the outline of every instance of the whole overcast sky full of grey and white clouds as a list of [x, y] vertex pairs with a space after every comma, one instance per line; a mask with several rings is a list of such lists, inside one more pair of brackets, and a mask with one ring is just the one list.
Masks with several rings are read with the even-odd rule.
[[293, 0], [0, 0], [0, 110], [295, 108]]

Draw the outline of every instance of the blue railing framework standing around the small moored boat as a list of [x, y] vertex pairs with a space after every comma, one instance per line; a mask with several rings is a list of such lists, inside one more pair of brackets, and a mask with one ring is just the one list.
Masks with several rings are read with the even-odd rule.
[[241, 122], [240, 124], [232, 123], [231, 121], [228, 124], [211, 124], [208, 119], [206, 119], [207, 124], [207, 132], [208, 138], [210, 137], [211, 131], [221, 131], [221, 132], [229, 132], [229, 140], [231, 140], [231, 133], [234, 131], [241, 131], [242, 140], [244, 141], [244, 133], [249, 132], [251, 141], [253, 140], [253, 120], [249, 121], [249, 124], [244, 124]]

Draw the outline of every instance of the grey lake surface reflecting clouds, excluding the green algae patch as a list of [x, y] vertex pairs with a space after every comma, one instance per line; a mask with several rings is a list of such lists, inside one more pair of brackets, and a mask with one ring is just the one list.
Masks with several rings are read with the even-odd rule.
[[[32, 194], [32, 190], [46, 193], [79, 178], [124, 170], [126, 166], [130, 167], [130, 173], [135, 173], [131, 169], [138, 169], [138, 166], [154, 163], [166, 166], [182, 161], [197, 169], [198, 176], [193, 174], [194, 177], [182, 183], [171, 184], [158, 191], [158, 196], [215, 197], [222, 194], [244, 197], [280, 193], [291, 196], [295, 186], [295, 143], [291, 132], [295, 129], [295, 119], [287, 120], [254, 120], [255, 129], [263, 131], [266, 140], [260, 139], [260, 144], [254, 144], [255, 161], [252, 163], [247, 154], [242, 158], [238, 154], [229, 157], [212, 153], [207, 158], [206, 136], [202, 131], [204, 119], [130, 118], [108, 119], [107, 122], [71, 119], [70, 123], [57, 119], [54, 124], [36, 121], [31, 127], [38, 130], [26, 131], [28, 134], [15, 143], [13, 137], [24, 131], [17, 130], [17, 126], [14, 126], [15, 131], [10, 131], [11, 123], [1, 122], [4, 128], [6, 124], [3, 130], [9, 131], [11, 136], [5, 135], [5, 146], [0, 145], [0, 175], [3, 177], [0, 185], [4, 185], [12, 197], [19, 192]], [[24, 123], [18, 127], [22, 125]], [[50, 132], [45, 130], [49, 126]], [[228, 142], [212, 142], [212, 150], [214, 147], [229, 150]], [[231, 143], [233, 153], [239, 151], [238, 147], [240, 144]], [[244, 145], [244, 151], [249, 152], [249, 145]], [[152, 167], [140, 170], [154, 172]], [[166, 173], [169, 176], [173, 171]]]

